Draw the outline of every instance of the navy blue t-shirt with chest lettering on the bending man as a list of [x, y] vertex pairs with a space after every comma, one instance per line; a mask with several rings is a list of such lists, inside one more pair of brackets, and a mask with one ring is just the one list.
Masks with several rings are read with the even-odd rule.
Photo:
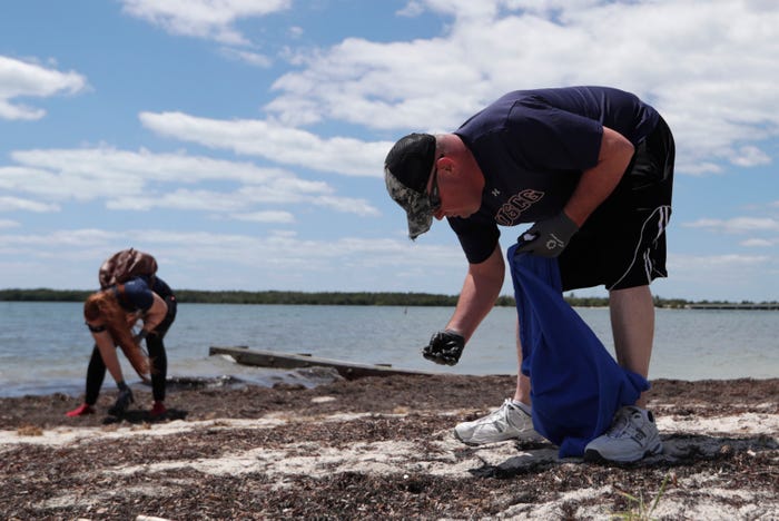
[[447, 219], [469, 262], [492, 254], [497, 225], [560, 213], [582, 171], [598, 164], [604, 126], [637, 146], [659, 118], [630, 92], [568, 87], [509, 92], [465, 121], [454, 134], [473, 153], [486, 184], [477, 213]]

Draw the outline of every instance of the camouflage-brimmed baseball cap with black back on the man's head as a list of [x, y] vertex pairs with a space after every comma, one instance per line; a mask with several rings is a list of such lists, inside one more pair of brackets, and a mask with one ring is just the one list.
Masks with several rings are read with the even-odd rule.
[[401, 138], [384, 160], [384, 181], [395, 203], [406, 210], [408, 237], [415, 239], [433, 224], [426, 188], [433, 173], [435, 136], [410, 134]]

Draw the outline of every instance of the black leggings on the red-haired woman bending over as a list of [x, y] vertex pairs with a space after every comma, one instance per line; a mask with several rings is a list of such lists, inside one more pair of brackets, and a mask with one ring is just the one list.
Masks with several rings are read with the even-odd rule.
[[[165, 320], [154, 328], [154, 334], [146, 337], [146, 347], [151, 358], [151, 395], [155, 402], [165, 401], [165, 382], [168, 375], [168, 356], [165, 353], [162, 338], [168, 332], [170, 324], [176, 320], [176, 297], [172, 295], [165, 298], [168, 305], [168, 313]], [[87, 405], [95, 405], [100, 395], [102, 381], [106, 379], [106, 364], [100, 356], [97, 345], [92, 347], [92, 357], [87, 367], [87, 393], [85, 402]]]

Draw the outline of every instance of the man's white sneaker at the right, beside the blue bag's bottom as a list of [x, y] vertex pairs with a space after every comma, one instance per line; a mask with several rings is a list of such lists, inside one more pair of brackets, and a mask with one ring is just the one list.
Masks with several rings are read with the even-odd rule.
[[662, 442], [652, 413], [633, 406], [617, 411], [605, 434], [584, 448], [585, 461], [639, 461], [662, 452]]

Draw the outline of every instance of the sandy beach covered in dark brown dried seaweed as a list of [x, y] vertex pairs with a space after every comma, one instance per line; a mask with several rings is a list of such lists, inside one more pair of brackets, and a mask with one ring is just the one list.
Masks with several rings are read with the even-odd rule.
[[[3, 519], [779, 519], [779, 379], [652, 382], [664, 451], [560, 460], [550, 443], [470, 448], [455, 423], [511, 376], [393, 376], [315, 389], [172, 382], [117, 420], [61, 394], [0, 399]], [[661, 492], [661, 486], [665, 486]], [[644, 512], [645, 513], [645, 512]]]

